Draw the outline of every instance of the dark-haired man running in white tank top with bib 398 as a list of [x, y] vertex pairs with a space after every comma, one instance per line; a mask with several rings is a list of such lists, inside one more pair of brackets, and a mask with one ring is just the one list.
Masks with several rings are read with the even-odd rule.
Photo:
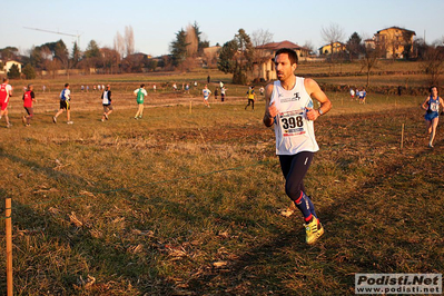
[[[314, 244], [324, 234], [324, 228], [304, 188], [304, 177], [314, 152], [319, 150], [314, 121], [329, 111], [332, 102], [316, 81], [295, 76], [297, 62], [294, 50], [276, 51], [278, 80], [266, 87], [263, 120], [265, 126], [275, 128], [276, 154], [286, 179], [285, 191], [304, 216], [306, 243]], [[318, 109], [313, 109], [312, 99], [320, 102]]]

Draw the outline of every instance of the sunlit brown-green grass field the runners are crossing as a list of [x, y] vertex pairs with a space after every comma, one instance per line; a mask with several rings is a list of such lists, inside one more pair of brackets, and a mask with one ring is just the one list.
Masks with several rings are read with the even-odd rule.
[[83, 93], [75, 125], [53, 125], [51, 90], [31, 127], [16, 107], [1, 129], [17, 295], [353, 295], [356, 273], [444, 270], [444, 130], [428, 149], [423, 97], [328, 93], [305, 181], [326, 234], [307, 246], [299, 213], [279, 215], [289, 200], [263, 100], [253, 112], [158, 93], [135, 120], [128, 90], [106, 122]]

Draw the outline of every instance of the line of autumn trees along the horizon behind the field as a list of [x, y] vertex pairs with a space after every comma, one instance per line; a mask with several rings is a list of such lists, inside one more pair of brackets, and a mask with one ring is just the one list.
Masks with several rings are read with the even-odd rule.
[[[344, 39], [343, 29], [335, 24], [322, 28], [320, 34], [325, 42], [332, 45], [332, 48], [334, 42]], [[226, 73], [233, 73], [233, 82], [245, 85], [247, 73], [251, 71], [253, 66], [269, 58], [264, 57], [263, 52], [255, 48], [268, 42], [273, 42], [273, 34], [267, 30], [254, 31], [250, 37], [244, 29], [239, 29], [231, 40], [220, 47], [216, 55], [205, 53], [209, 41], [204, 39], [203, 32], [195, 21], [194, 24], [188, 24], [175, 33], [175, 39], [169, 46], [170, 55], [151, 58], [148, 55], [135, 52], [134, 31], [130, 26], [127, 26], [124, 34], [116, 33], [112, 48], [99, 47], [95, 40], [90, 40], [85, 51], [80, 50], [77, 42], [69, 50], [61, 39], [32, 47], [29, 56], [20, 56], [20, 61], [23, 63], [21, 73], [18, 67], [13, 66], [8, 76], [10, 78], [24, 76], [27, 79], [33, 79], [37, 76], [36, 71], [47, 71], [56, 76], [57, 70], [66, 70], [69, 75], [70, 69], [79, 69], [86, 73], [142, 72], [155, 71], [159, 68], [161, 70], [189, 71], [204, 65], [209, 68], [218, 68]], [[309, 41], [306, 41], [304, 47], [315, 51]], [[384, 49], [365, 47], [363, 38], [357, 32], [352, 33], [345, 47], [345, 51], [332, 52], [327, 59], [330, 62], [359, 59], [368, 79], [371, 70], [376, 66]], [[415, 52], [415, 55], [412, 56], [410, 52]], [[19, 50], [14, 47], [7, 47], [0, 49], [0, 55], [4, 62], [17, 59]], [[424, 71], [432, 76], [432, 82], [437, 82], [444, 68], [443, 47], [440, 47], [440, 42], [427, 45], [421, 38], [415, 39], [412, 45], [405, 46], [403, 56], [404, 59], [422, 60]], [[0, 66], [2, 68], [3, 65]]]

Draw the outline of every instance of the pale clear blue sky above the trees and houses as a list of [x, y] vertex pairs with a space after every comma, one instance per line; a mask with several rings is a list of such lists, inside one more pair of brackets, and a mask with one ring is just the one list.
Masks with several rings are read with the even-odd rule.
[[444, 36], [444, 0], [159, 0], [159, 1], [49, 1], [17, 0], [1, 4], [0, 48], [18, 47], [23, 53], [32, 46], [62, 39], [72, 48], [75, 37], [41, 32], [23, 27], [80, 34], [80, 48], [90, 40], [112, 47], [114, 38], [131, 26], [136, 51], [154, 56], [169, 52], [175, 33], [197, 21], [210, 46], [224, 45], [239, 28], [251, 34], [268, 30], [274, 41], [289, 40], [315, 48], [324, 45], [320, 30], [330, 23], [371, 38], [377, 30], [398, 26], [424, 37], [427, 42]]

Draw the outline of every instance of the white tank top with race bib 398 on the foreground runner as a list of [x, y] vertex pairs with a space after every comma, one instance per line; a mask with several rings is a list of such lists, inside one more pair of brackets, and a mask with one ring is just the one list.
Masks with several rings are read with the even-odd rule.
[[304, 78], [296, 77], [295, 87], [285, 90], [275, 81], [270, 103], [275, 102], [276, 155], [295, 155], [302, 151], [319, 150], [312, 120], [307, 119], [306, 107], [313, 108], [313, 100], [305, 90]]

